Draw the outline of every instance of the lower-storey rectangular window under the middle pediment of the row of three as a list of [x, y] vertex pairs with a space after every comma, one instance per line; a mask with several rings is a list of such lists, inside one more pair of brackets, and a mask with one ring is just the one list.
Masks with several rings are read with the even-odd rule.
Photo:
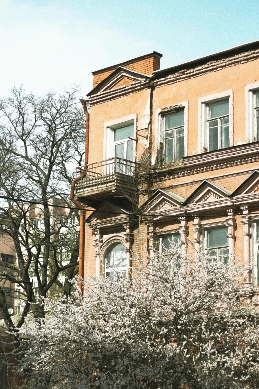
[[209, 229], [204, 232], [204, 248], [207, 250], [211, 261], [214, 261], [217, 265], [226, 264], [229, 260], [227, 234], [227, 227]]

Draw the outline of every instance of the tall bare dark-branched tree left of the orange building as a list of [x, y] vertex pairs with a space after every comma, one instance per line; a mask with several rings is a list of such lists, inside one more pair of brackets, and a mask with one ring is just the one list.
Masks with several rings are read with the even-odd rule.
[[[79, 211], [67, 195], [84, 154], [85, 119], [77, 96], [76, 87], [42, 98], [14, 87], [0, 101], [0, 233], [13, 240], [17, 255], [16, 263], [0, 262], [0, 281], [21, 290], [23, 311], [16, 327], [29, 311], [44, 317], [37, 293], [45, 298], [56, 290], [63, 274], [69, 294], [69, 280], [77, 273], [79, 238], [71, 221]], [[2, 288], [0, 311], [14, 328]]]

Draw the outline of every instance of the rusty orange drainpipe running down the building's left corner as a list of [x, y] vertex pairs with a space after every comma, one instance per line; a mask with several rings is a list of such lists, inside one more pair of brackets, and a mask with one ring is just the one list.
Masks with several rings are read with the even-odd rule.
[[[89, 154], [89, 124], [90, 124], [90, 115], [87, 110], [86, 101], [83, 99], [80, 99], [80, 102], [84, 109], [84, 114], [86, 117], [86, 123], [85, 123], [85, 165], [88, 164], [88, 154]], [[80, 178], [82, 178], [83, 174], [79, 177], [76, 177], [71, 184], [71, 193], [70, 193], [70, 200], [74, 205], [80, 209], [80, 231], [79, 231], [79, 268], [78, 268], [78, 275], [79, 275], [79, 289], [81, 293], [83, 294], [83, 273], [84, 273], [84, 236], [85, 236], [85, 207], [82, 206], [77, 200], [74, 198], [75, 194], [75, 184], [76, 181], [78, 181]]]

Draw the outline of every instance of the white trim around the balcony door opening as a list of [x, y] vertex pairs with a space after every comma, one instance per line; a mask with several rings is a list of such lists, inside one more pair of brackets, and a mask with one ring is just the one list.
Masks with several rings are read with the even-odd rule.
[[[114, 156], [114, 148], [113, 148], [113, 129], [123, 127], [126, 125], [134, 124], [134, 136], [137, 137], [137, 114], [124, 116], [118, 119], [111, 120], [109, 122], [104, 123], [104, 132], [103, 132], [103, 159], [109, 159]], [[108, 148], [108, 144], [110, 148]], [[136, 160], [136, 142], [134, 142], [133, 149], [133, 161]]]

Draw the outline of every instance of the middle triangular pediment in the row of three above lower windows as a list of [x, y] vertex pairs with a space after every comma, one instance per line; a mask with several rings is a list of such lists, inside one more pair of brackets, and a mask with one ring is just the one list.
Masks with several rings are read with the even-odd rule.
[[228, 189], [215, 182], [205, 180], [186, 199], [184, 205], [195, 203], [210, 203], [230, 195], [231, 192]]

